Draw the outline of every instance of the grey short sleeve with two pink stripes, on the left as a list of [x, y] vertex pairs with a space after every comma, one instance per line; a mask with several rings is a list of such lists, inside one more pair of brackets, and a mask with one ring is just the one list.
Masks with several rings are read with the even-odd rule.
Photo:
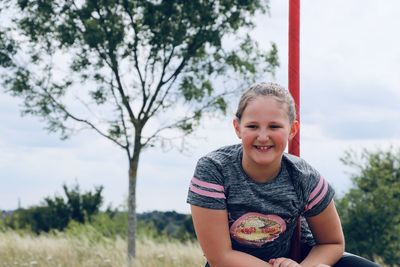
[[187, 203], [209, 209], [226, 209], [223, 180], [218, 165], [208, 157], [201, 158], [190, 181]]

